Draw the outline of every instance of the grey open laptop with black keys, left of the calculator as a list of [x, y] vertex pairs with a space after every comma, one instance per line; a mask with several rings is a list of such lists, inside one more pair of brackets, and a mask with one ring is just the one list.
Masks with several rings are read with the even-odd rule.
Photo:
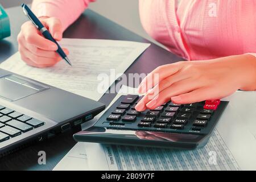
[[100, 102], [0, 69], [0, 157], [104, 109]]

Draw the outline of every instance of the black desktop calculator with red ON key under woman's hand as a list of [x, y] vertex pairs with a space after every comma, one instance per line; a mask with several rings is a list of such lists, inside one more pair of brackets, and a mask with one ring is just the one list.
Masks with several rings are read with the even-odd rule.
[[87, 130], [73, 137], [79, 142], [132, 146], [197, 148], [208, 142], [228, 101], [211, 100], [179, 105], [167, 102], [139, 112], [143, 96], [123, 95]]

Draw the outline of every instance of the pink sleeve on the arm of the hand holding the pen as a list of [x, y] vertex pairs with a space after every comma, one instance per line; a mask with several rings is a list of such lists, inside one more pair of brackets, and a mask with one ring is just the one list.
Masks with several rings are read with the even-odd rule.
[[79, 18], [92, 1], [96, 0], [34, 0], [32, 11], [38, 17], [49, 16], [59, 18], [64, 31]]

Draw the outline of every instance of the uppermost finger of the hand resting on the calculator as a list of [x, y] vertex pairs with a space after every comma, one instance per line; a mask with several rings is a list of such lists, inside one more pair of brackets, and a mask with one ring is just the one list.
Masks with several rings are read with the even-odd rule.
[[153, 88], [160, 81], [174, 75], [180, 69], [180, 64], [167, 64], [160, 66], [151, 73], [149, 73], [141, 82], [138, 88], [139, 93], [146, 93], [149, 89]]

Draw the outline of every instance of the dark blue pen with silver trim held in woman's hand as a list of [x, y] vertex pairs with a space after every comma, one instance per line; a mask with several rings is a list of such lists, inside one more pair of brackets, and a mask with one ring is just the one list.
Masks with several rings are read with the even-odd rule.
[[38, 18], [36, 18], [35, 14], [32, 13], [32, 11], [30, 10], [30, 8], [26, 5], [26, 4], [22, 4], [22, 9], [24, 11], [24, 14], [27, 15], [28, 19], [31, 21], [32, 24], [34, 24], [34, 26], [36, 28], [38, 28], [38, 30], [43, 34], [44, 38], [51, 40], [52, 42], [54, 42], [58, 49], [57, 49], [57, 53], [69, 64], [72, 66], [71, 61], [69, 61], [67, 55], [64, 53], [63, 49], [60, 47], [60, 45], [56, 42], [55, 39], [53, 39], [52, 35], [49, 33], [49, 31], [47, 30], [46, 27], [43, 26], [43, 24], [40, 22], [40, 20]]

